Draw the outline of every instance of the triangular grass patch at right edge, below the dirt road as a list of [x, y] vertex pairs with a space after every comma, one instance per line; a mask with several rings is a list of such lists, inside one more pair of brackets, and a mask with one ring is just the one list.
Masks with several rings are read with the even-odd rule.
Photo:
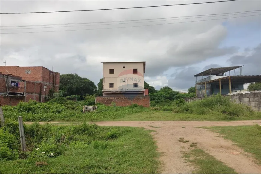
[[261, 164], [261, 126], [214, 126], [202, 127], [223, 135], [225, 139], [233, 141], [245, 152], [252, 153]]

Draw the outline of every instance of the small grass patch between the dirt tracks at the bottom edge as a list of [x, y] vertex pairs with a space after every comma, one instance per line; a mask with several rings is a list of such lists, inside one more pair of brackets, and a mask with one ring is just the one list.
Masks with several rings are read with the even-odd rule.
[[236, 173], [234, 169], [226, 166], [202, 149], [184, 152], [183, 158], [196, 166], [196, 170], [192, 173]]

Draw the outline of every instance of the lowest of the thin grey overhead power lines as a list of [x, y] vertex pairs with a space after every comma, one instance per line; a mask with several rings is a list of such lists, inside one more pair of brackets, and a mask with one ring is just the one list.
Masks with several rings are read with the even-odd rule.
[[[220, 19], [231, 19], [239, 17], [249, 17], [249, 16], [259, 16], [260, 14], [248, 15], [248, 16], [236, 16], [236, 17], [227, 17], [227, 18], [218, 18], [218, 19], [205, 19], [197, 21], [185, 21], [185, 22], [173, 22], [173, 23], [163, 23], [163, 24], [151, 24], [143, 26], [158, 26], [158, 25], [167, 25], [167, 24], [178, 24], [178, 23], [187, 23], [187, 22], [199, 22], [199, 21], [211, 21], [211, 20], [220, 20]], [[22, 33], [44, 33], [44, 32], [66, 32], [66, 31], [84, 31], [84, 30], [103, 30], [103, 29], [120, 29], [120, 28], [133, 28], [133, 27], [143, 27], [143, 26], [124, 26], [124, 27], [112, 27], [112, 28], [96, 28], [96, 29], [76, 29], [76, 30], [56, 30], [56, 31], [41, 31], [41, 32], [17, 32], [17, 33], [0, 33], [2, 34], [22, 34]]]

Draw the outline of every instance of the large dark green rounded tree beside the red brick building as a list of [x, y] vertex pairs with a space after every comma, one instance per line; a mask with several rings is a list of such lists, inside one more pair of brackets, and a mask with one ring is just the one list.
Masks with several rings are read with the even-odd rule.
[[94, 82], [87, 78], [83, 78], [75, 74], [60, 75], [59, 89], [65, 90], [67, 96], [86, 94], [93, 95], [97, 92], [97, 87]]

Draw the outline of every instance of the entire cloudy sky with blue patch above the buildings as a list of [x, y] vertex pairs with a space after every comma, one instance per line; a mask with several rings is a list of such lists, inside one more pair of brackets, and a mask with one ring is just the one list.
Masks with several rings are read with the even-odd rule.
[[[36, 12], [193, 2], [206, 1], [1, 0], [0, 9], [1, 13]], [[210, 67], [244, 65], [242, 70], [244, 75], [260, 75], [261, 12], [248, 12], [236, 15], [232, 13], [252, 10], [261, 10], [260, 0], [240, 0], [125, 10], [1, 14], [1, 65], [6, 60], [6, 65], [44, 66], [50, 70], [53, 67], [54, 71], [61, 74], [77, 73], [79, 76], [86, 77], [97, 84], [99, 79], [102, 78], [102, 64], [100, 62], [146, 61], [146, 82], [157, 89], [168, 85], [174, 90], [179, 91], [186, 91], [187, 88], [194, 86], [196, 79], [193, 75]], [[220, 13], [230, 14], [226, 14], [225, 16], [224, 14], [222, 16], [214, 15], [212, 17], [197, 16], [194, 19], [192, 19], [193, 17], [170, 18]], [[35, 26], [154, 18], [167, 19], [157, 19], [156, 22], [148, 22], [147, 20], [146, 22], [132, 21], [136, 23], [113, 22]], [[4, 26], [26, 27], [7, 28]], [[79, 29], [85, 30], [61, 31]], [[19, 32], [38, 33], [4, 34]]]

